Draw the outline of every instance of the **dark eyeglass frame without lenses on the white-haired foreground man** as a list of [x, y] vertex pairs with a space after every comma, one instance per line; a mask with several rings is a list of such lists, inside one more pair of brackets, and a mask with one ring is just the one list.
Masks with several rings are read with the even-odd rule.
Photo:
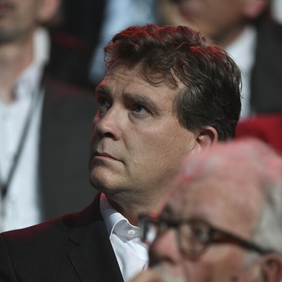
[[[164, 218], [158, 218], [158, 217], [154, 217], [154, 216], [150, 216], [147, 214], [141, 214], [139, 216], [139, 220], [138, 220], [138, 226], [141, 229], [141, 240], [146, 243], [145, 240], [145, 226], [148, 224], [154, 224], [155, 226], [158, 227], [158, 229], [160, 229], [160, 223], [165, 223], [166, 228], [170, 229], [170, 228], [175, 228], [177, 230], [177, 238], [178, 238], [178, 246], [179, 249], [182, 253], [188, 255], [188, 256], [200, 256], [202, 255], [208, 247], [210, 247], [212, 244], [220, 244], [220, 243], [229, 243], [229, 244], [234, 244], [237, 245], [239, 247], [242, 247], [244, 249], [247, 250], [251, 250], [251, 251], [255, 251], [257, 253], [259, 253], [260, 255], [266, 255], [269, 253], [278, 253], [277, 251], [274, 251], [272, 249], [267, 249], [267, 248], [263, 248], [258, 246], [257, 244], [255, 244], [254, 242], [251, 242], [249, 240], [245, 240], [237, 235], [234, 235], [228, 231], [225, 231], [223, 229], [218, 229], [214, 226], [212, 226], [209, 222], [203, 220], [203, 219], [199, 219], [199, 218], [190, 218], [190, 219], [184, 219], [184, 220], [178, 220], [178, 221], [173, 221], [173, 220], [167, 220]], [[183, 243], [181, 243], [181, 239], [180, 239], [180, 231], [179, 231], [179, 226], [183, 225], [183, 224], [192, 224], [192, 223], [200, 223], [200, 224], [204, 224], [208, 227], [208, 236], [209, 239], [206, 242], [203, 242], [203, 248], [201, 251], [199, 251], [198, 253], [188, 253], [186, 251], [184, 251], [183, 249]], [[162, 231], [165, 231], [162, 230]], [[216, 235], [220, 235], [221, 238], [218, 238], [217, 240], [214, 238], [214, 236]], [[157, 238], [158, 233], [156, 234], [155, 239]], [[280, 254], [282, 255], [282, 254]]]

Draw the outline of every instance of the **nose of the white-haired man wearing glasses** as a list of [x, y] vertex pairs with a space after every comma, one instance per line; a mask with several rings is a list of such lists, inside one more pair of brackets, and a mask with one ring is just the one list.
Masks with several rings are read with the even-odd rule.
[[149, 248], [150, 266], [160, 263], [176, 265], [180, 260], [176, 230], [169, 229], [159, 234]]

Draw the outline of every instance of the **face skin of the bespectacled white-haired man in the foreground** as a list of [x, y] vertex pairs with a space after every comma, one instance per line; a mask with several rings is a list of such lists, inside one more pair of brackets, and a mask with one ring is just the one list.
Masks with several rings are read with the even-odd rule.
[[[215, 228], [251, 240], [258, 224], [261, 194], [250, 189], [241, 195], [232, 181], [218, 180], [209, 177], [194, 181], [189, 187], [183, 183], [167, 202], [161, 217], [176, 221], [202, 219]], [[260, 281], [256, 280], [260, 275], [258, 266], [246, 267], [247, 251], [237, 245], [212, 244], [202, 255], [189, 257], [179, 251], [177, 244], [176, 229], [159, 234], [150, 247], [150, 266], [171, 275], [175, 281]]]

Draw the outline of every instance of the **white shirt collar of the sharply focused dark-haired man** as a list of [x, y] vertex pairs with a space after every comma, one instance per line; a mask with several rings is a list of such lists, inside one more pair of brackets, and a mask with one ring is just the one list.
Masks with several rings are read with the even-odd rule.
[[112, 233], [128, 238], [139, 236], [140, 228], [131, 225], [128, 220], [108, 202], [104, 193], [100, 196], [100, 211], [106, 224], [109, 238], [111, 238]]

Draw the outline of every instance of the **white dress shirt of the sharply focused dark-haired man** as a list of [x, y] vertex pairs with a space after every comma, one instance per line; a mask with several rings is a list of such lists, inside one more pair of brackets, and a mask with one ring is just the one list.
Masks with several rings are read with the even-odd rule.
[[100, 210], [125, 282], [141, 272], [148, 262], [148, 247], [141, 242], [140, 228], [128, 220], [101, 194]]

